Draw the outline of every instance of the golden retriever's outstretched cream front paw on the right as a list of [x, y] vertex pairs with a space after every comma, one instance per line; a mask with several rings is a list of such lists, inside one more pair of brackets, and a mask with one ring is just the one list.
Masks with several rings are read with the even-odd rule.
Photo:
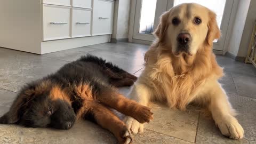
[[233, 116], [225, 116], [219, 119], [217, 125], [221, 133], [230, 139], [242, 139], [244, 129]]

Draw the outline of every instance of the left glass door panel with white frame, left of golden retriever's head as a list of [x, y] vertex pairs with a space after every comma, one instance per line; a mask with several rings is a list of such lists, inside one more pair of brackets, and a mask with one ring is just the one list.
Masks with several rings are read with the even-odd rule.
[[133, 39], [153, 41], [153, 31], [160, 15], [167, 10], [167, 0], [137, 0], [133, 28]]

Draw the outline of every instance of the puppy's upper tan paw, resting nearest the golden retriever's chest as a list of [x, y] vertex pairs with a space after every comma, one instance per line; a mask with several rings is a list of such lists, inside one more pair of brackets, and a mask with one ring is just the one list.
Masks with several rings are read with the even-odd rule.
[[135, 111], [132, 113], [132, 117], [142, 124], [149, 123], [153, 119], [153, 113], [149, 107], [137, 105]]

